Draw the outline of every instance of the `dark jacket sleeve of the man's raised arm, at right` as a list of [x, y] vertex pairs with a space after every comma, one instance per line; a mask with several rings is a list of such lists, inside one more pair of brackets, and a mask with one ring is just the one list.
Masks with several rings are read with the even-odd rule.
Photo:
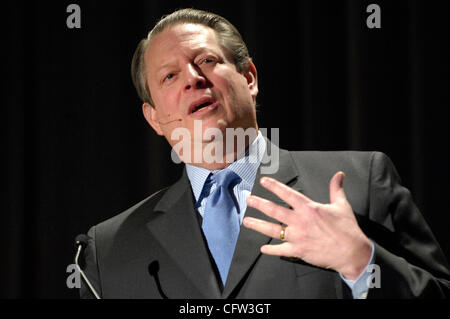
[[369, 298], [446, 298], [450, 271], [445, 256], [390, 159], [375, 152], [370, 170], [369, 214], [389, 229], [389, 246], [375, 243], [379, 288]]

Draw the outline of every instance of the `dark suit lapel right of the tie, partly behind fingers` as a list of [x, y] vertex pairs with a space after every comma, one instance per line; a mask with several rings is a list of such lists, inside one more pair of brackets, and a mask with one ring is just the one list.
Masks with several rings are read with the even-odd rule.
[[[269, 143], [270, 142], [268, 141], [268, 144]], [[272, 145], [272, 150], [273, 147], [274, 146]], [[275, 194], [269, 192], [261, 186], [259, 180], [263, 176], [269, 175], [261, 174], [260, 167], [256, 175], [252, 194], [273, 201], [277, 204], [287, 206]], [[270, 177], [292, 186], [297, 176], [298, 172], [295, 169], [295, 165], [291, 159], [289, 152], [280, 149], [279, 170], [275, 174], [271, 174]], [[251, 216], [271, 222], [277, 222], [251, 207], [247, 207], [245, 216]], [[270, 241], [270, 237], [241, 226], [239, 238], [236, 244], [236, 250], [233, 255], [233, 261], [230, 266], [229, 276], [222, 294], [223, 298], [228, 298], [230, 296], [230, 294], [233, 292], [242, 278], [247, 274], [247, 272], [251, 269], [251, 267], [255, 264], [255, 262], [261, 255], [260, 247], [262, 245], [268, 244]]]

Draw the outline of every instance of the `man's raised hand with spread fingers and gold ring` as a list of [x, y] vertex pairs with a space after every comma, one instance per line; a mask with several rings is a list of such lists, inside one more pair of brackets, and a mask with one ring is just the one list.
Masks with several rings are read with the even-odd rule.
[[261, 178], [263, 187], [285, 201], [292, 209], [251, 195], [247, 204], [280, 224], [246, 217], [245, 227], [284, 242], [264, 245], [263, 254], [295, 257], [312, 265], [333, 269], [354, 280], [364, 270], [371, 254], [370, 239], [358, 226], [345, 196], [344, 173], [330, 181], [330, 203], [315, 202], [307, 196], [269, 177]]

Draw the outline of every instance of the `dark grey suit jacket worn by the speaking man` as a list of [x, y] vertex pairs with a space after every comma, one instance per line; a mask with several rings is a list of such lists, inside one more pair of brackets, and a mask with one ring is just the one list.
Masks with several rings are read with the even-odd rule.
[[[384, 154], [280, 150], [280, 168], [271, 177], [327, 203], [337, 171], [345, 172], [347, 198], [375, 245], [381, 283], [368, 297], [448, 296], [445, 257]], [[286, 206], [259, 184], [261, 176], [252, 194]], [[250, 207], [245, 215], [270, 220]], [[172, 186], [89, 230], [87, 276], [102, 298], [351, 298], [338, 273], [263, 255], [262, 245], [279, 241], [245, 227], [221, 289], [200, 225], [184, 172]], [[85, 285], [80, 294], [92, 297]]]

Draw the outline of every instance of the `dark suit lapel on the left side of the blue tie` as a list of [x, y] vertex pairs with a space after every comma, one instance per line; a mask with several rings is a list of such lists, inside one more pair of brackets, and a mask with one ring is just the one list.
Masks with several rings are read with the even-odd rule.
[[[198, 288], [202, 298], [220, 298], [186, 171], [167, 190], [154, 210], [159, 215], [147, 224], [152, 235]], [[170, 234], [167, 233], [169, 229]]]

